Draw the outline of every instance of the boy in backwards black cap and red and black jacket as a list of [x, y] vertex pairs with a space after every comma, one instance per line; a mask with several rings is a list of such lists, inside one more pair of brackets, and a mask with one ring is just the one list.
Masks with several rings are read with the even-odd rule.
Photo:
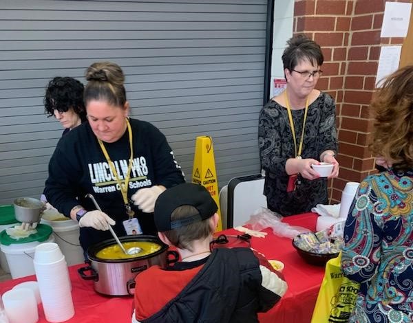
[[160, 194], [154, 210], [158, 236], [178, 249], [181, 261], [136, 276], [132, 323], [258, 322], [257, 312], [268, 311], [284, 295], [286, 282], [261, 266], [251, 249], [210, 251], [217, 210], [198, 184]]

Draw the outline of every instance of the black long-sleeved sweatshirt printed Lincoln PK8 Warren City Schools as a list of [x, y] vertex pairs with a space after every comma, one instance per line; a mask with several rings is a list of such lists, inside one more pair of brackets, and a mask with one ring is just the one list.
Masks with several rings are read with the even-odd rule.
[[[155, 126], [140, 120], [130, 120], [134, 163], [129, 179], [128, 198], [139, 188], [162, 185], [166, 188], [184, 182], [180, 166], [173, 158], [171, 147]], [[116, 172], [123, 181], [130, 156], [129, 135], [125, 131], [117, 142], [104, 143]], [[45, 185], [47, 201], [70, 216], [70, 210], [81, 204], [86, 210], [95, 210], [85, 194], [94, 195], [100, 208], [116, 221], [114, 230], [125, 235], [122, 221], [127, 219], [118, 183], [98, 144], [88, 122], [77, 126], [63, 136], [56, 146], [49, 163], [49, 177]], [[155, 234], [153, 214], [140, 212], [132, 205], [144, 234]], [[89, 237], [87, 237], [89, 236]], [[87, 249], [90, 243], [110, 238], [108, 232], [81, 228], [81, 245]]]

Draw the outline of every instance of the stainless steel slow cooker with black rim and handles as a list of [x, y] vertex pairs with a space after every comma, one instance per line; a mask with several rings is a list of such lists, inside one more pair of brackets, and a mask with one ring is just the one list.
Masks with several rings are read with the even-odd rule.
[[160, 249], [152, 254], [145, 256], [137, 255], [134, 258], [107, 260], [96, 257], [96, 254], [109, 245], [116, 244], [114, 239], [108, 239], [96, 243], [87, 249], [87, 258], [90, 265], [78, 269], [78, 273], [84, 280], [94, 281], [94, 290], [109, 296], [134, 295], [134, 279], [141, 271], [153, 266], [159, 265], [162, 268], [167, 267], [168, 263], [176, 259], [168, 260], [168, 246], [159, 240], [156, 236], [122, 236], [120, 242], [129, 241], [147, 241], [157, 243]]

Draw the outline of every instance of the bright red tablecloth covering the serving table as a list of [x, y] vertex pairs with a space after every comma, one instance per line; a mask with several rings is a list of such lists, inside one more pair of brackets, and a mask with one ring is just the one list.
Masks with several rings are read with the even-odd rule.
[[[288, 216], [285, 222], [315, 230], [317, 214], [308, 213]], [[284, 265], [284, 276], [288, 282], [288, 291], [284, 298], [267, 313], [260, 313], [260, 322], [310, 322], [313, 307], [324, 275], [324, 267], [308, 265], [302, 260], [291, 245], [289, 238], [274, 236], [266, 230], [266, 238], [252, 238], [251, 246], [262, 252], [268, 259], [281, 260]], [[224, 234], [234, 234], [234, 230], [225, 230]], [[131, 322], [132, 298], [109, 297], [96, 293], [93, 282], [80, 278], [77, 269], [82, 265], [69, 268], [72, 281], [72, 298], [75, 315], [67, 323], [126, 323]], [[23, 281], [36, 280], [28, 276], [0, 283], [3, 294]], [[39, 323], [45, 323], [43, 308], [39, 305]]]

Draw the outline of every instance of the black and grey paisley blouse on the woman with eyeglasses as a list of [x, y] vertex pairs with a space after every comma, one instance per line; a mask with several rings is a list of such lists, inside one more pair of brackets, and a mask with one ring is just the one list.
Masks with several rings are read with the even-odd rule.
[[[301, 138], [304, 109], [292, 110], [297, 141]], [[323, 151], [337, 153], [335, 102], [327, 93], [308, 107], [301, 157], [319, 160]], [[310, 181], [299, 176], [294, 192], [286, 192], [286, 161], [295, 157], [293, 135], [285, 107], [270, 100], [260, 112], [258, 143], [262, 168], [266, 171], [264, 195], [268, 208], [283, 216], [309, 212], [318, 203], [328, 203], [327, 179]]]

